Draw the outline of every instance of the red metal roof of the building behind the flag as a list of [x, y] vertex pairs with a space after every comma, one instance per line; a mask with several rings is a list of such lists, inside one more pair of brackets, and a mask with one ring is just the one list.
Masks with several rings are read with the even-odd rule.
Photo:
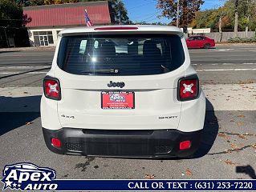
[[111, 23], [108, 2], [78, 2], [49, 6], [27, 6], [23, 14], [32, 18], [26, 27], [86, 25], [84, 10], [93, 24]]

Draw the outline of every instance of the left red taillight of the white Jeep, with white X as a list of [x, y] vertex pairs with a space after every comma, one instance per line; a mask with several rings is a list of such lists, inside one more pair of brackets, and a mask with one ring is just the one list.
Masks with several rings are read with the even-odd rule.
[[43, 92], [47, 98], [60, 100], [61, 93], [60, 93], [59, 80], [57, 78], [43, 79]]

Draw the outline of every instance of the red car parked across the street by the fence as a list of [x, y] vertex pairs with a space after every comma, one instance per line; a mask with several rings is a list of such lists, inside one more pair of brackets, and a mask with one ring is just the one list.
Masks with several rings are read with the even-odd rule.
[[214, 39], [205, 36], [191, 36], [186, 39], [188, 48], [205, 48], [209, 49], [215, 46]]

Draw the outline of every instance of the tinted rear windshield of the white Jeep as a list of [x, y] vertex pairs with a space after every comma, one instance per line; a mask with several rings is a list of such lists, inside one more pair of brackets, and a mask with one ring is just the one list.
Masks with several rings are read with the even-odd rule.
[[173, 34], [97, 34], [63, 37], [58, 66], [71, 74], [150, 75], [176, 70], [185, 60]]

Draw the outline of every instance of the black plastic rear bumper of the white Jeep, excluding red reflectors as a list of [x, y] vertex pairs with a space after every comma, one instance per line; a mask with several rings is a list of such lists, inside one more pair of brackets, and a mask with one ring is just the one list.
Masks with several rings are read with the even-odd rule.
[[[201, 130], [87, 130], [62, 128], [47, 130], [43, 136], [49, 150], [57, 154], [80, 154], [104, 157], [170, 158], [187, 157], [196, 152]], [[59, 138], [62, 146], [51, 145], [51, 138]], [[187, 150], [180, 150], [180, 142], [189, 140]]]

